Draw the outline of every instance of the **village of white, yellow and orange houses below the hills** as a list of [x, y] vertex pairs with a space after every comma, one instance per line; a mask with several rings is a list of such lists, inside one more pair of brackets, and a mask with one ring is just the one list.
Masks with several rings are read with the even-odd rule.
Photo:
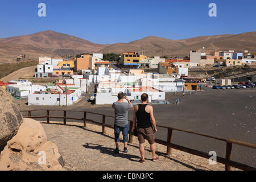
[[[111, 66], [110, 66], [111, 65]], [[113, 67], [112, 67], [113, 65]], [[125, 52], [119, 64], [103, 60], [102, 53], [81, 55], [74, 60], [60, 57], [39, 57], [35, 78], [53, 78], [46, 84], [32, 84], [24, 79], [0, 82], [16, 100], [27, 99], [27, 105], [68, 106], [75, 104], [82, 94], [96, 105], [112, 104], [118, 92], [123, 92], [133, 104], [140, 102], [142, 93], [148, 94], [151, 104], [169, 104], [166, 93], [194, 92], [213, 89], [254, 88], [255, 82], [237, 82], [207, 75], [189, 76], [189, 69], [256, 65], [256, 58], [248, 51], [218, 51], [214, 56], [203, 51], [190, 51], [184, 58], [154, 58], [139, 52]], [[148, 72], [154, 70], [154, 72]]]

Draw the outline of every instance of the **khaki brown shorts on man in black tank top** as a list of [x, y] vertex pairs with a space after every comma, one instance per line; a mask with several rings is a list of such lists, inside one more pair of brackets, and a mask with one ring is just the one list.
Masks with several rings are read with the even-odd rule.
[[145, 139], [147, 139], [148, 143], [155, 143], [155, 135], [152, 127], [147, 128], [137, 128], [138, 140], [139, 143], [145, 143]]

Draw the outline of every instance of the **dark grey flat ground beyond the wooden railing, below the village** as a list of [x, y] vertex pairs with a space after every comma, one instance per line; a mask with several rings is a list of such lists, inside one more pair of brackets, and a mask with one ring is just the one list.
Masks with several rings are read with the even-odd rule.
[[[179, 105], [175, 105], [177, 98]], [[90, 105], [83, 97], [75, 105], [68, 106], [27, 106], [26, 109], [68, 109], [88, 110], [97, 113], [114, 115], [111, 105]], [[216, 137], [241, 140], [256, 143], [256, 88], [213, 90], [205, 88], [202, 92], [189, 92], [174, 95], [166, 93], [168, 105], [154, 105], [154, 115], [159, 125], [177, 127]], [[26, 113], [23, 113], [26, 115]], [[63, 115], [63, 112], [50, 112], [51, 115]], [[46, 111], [34, 111], [32, 115], [46, 115]], [[68, 112], [68, 117], [82, 118], [82, 113]], [[88, 114], [89, 119], [101, 122], [100, 115]], [[133, 119], [133, 110], [129, 110], [129, 119]], [[41, 119], [45, 121], [46, 118]], [[52, 119], [58, 121], [57, 119]], [[60, 120], [61, 121], [61, 120]], [[106, 123], [113, 124], [113, 118], [107, 118]], [[158, 128], [156, 138], [167, 139], [167, 129]], [[180, 131], [173, 132], [172, 142], [196, 150], [209, 152], [216, 151], [218, 156], [225, 157], [226, 143], [214, 139], [200, 137]], [[233, 145], [232, 160], [256, 167], [256, 150]]]

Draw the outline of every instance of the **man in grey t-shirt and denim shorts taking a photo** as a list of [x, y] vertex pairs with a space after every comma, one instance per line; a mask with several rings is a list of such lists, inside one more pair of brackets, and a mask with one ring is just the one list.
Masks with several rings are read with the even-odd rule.
[[[114, 152], [116, 154], [119, 153], [118, 148], [118, 142], [120, 142], [119, 135], [122, 131], [123, 134], [123, 142], [124, 142], [124, 148], [123, 152], [127, 153], [127, 142], [128, 142], [128, 109], [133, 108], [133, 105], [131, 104], [128, 97], [124, 96], [123, 92], [119, 92], [118, 95], [118, 101], [114, 102], [112, 107], [115, 110], [115, 121], [114, 121], [114, 134], [115, 134], [115, 150]], [[128, 103], [123, 102], [123, 99], [126, 99]]]

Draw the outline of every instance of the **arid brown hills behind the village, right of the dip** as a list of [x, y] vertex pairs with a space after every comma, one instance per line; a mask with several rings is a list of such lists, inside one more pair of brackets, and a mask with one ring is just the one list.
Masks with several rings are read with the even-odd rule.
[[147, 56], [188, 56], [190, 49], [213, 53], [214, 51], [234, 49], [236, 51], [256, 50], [256, 32], [246, 32], [243, 34], [225, 34], [214, 36], [200, 36], [190, 39], [170, 40], [149, 36], [129, 43], [117, 43], [101, 49], [103, 53], [122, 53], [126, 51], [142, 51]]

